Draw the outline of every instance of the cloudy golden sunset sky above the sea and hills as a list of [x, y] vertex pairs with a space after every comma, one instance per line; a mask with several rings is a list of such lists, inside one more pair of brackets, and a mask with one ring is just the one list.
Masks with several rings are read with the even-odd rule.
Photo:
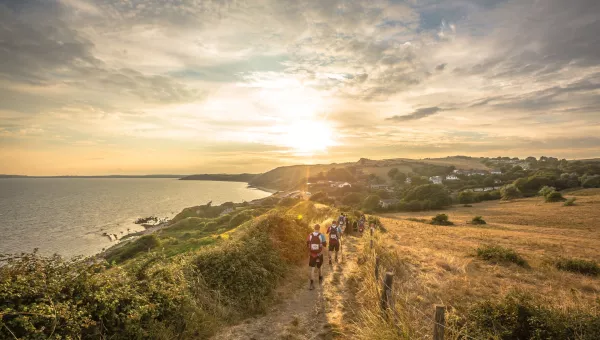
[[600, 157], [597, 0], [0, 0], [0, 173]]

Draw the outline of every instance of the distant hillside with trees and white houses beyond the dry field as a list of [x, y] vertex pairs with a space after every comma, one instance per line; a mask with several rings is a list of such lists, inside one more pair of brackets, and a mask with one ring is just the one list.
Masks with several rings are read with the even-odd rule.
[[419, 211], [500, 199], [506, 186], [516, 185], [523, 195], [532, 195], [542, 184], [558, 189], [582, 186], [586, 181], [595, 185], [600, 176], [598, 163], [553, 157], [468, 159], [471, 168], [464, 164], [457, 168], [414, 160], [361, 159], [357, 166], [322, 171], [296, 190], [278, 193], [277, 198], [309, 199], [367, 211]]

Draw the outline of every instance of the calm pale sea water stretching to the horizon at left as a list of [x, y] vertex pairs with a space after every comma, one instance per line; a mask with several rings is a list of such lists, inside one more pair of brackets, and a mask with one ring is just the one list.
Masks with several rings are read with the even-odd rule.
[[183, 208], [269, 196], [246, 183], [176, 179], [0, 179], [0, 253], [92, 255], [144, 228], [138, 217], [172, 217]]

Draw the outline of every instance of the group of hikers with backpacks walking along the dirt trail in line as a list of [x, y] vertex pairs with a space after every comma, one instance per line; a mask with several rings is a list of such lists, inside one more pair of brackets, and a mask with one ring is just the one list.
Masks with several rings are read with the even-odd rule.
[[[358, 221], [354, 222], [354, 229], [362, 233], [366, 224], [366, 218], [364, 215], [360, 217]], [[342, 213], [337, 220], [334, 220], [329, 227], [327, 227], [326, 234], [329, 235], [329, 242], [325, 234], [321, 233], [321, 226], [315, 224], [314, 231], [308, 235], [307, 246], [310, 253], [308, 266], [310, 268], [310, 286], [309, 289], [314, 289], [314, 275], [315, 270], [319, 274], [319, 284], [323, 283], [323, 274], [321, 272], [321, 266], [323, 265], [323, 251], [329, 244], [327, 257], [329, 265], [332, 265], [332, 253], [334, 255], [334, 261], [338, 263], [338, 253], [342, 251], [342, 235], [346, 231], [347, 227], [350, 226], [350, 220], [347, 216]], [[357, 228], [358, 227], [358, 228]], [[371, 228], [374, 228], [372, 223]], [[343, 254], [342, 254], [343, 256]]]

